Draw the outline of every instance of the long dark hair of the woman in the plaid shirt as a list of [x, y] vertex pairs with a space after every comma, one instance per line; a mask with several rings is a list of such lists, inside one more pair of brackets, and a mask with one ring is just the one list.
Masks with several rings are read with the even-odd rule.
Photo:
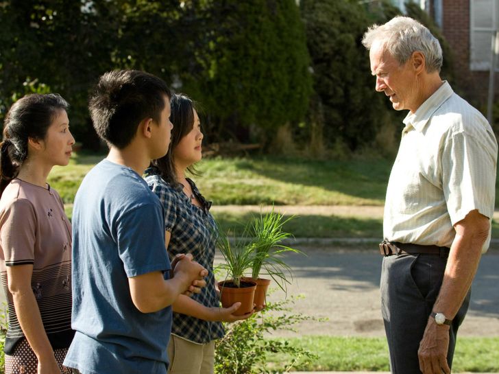
[[[161, 178], [170, 185], [175, 185], [178, 183], [178, 180], [173, 165], [175, 162], [173, 159], [173, 150], [178, 143], [180, 143], [182, 138], [193, 129], [194, 110], [197, 110], [197, 108], [195, 102], [182, 93], [171, 95], [170, 106], [170, 121], [173, 124], [173, 130], [171, 130], [171, 143], [167, 154], [162, 156], [161, 159], [153, 160], [152, 165], [158, 169]], [[198, 175], [192, 165], [188, 167], [187, 170], [188, 172], [191, 172], [191, 174]]]

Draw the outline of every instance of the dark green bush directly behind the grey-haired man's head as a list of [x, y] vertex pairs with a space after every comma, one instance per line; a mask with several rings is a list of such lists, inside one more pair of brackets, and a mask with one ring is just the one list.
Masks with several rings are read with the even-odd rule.
[[[329, 149], [344, 144], [352, 152], [370, 147], [378, 154], [394, 154], [400, 138], [397, 125], [406, 112], [395, 112], [385, 95], [375, 91], [369, 53], [361, 39], [367, 27], [389, 21], [400, 10], [387, 0], [302, 0], [300, 8], [314, 71], [309, 137], [317, 138], [318, 129]], [[416, 3], [407, 3], [406, 10], [439, 38], [442, 76], [452, 80], [452, 51], [441, 31]]]

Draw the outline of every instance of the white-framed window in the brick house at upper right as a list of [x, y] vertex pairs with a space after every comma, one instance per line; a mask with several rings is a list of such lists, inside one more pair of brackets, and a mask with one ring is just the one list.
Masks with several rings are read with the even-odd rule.
[[491, 37], [499, 30], [499, 0], [470, 0], [470, 7], [470, 69], [486, 71], [490, 69]]

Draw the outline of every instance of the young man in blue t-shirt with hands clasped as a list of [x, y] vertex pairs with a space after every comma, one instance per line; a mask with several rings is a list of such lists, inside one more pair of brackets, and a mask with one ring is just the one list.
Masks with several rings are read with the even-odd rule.
[[191, 255], [169, 277], [162, 207], [141, 177], [167, 153], [169, 99], [165, 82], [142, 71], [106, 73], [90, 97], [110, 152], [85, 176], [73, 208], [76, 334], [64, 364], [82, 374], [166, 374], [170, 305], [204, 285], [206, 270]]

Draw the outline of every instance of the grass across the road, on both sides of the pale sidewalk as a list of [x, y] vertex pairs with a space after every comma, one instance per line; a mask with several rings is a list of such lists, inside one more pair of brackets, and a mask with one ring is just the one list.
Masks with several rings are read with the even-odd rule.
[[[59, 191], [71, 217], [72, 202], [84, 175], [104, 154], [76, 154], [66, 167], [54, 167], [50, 185]], [[199, 189], [216, 205], [300, 204], [382, 205], [391, 167], [385, 159], [314, 161], [278, 157], [215, 158], [199, 163]], [[496, 191], [496, 202], [499, 191]], [[241, 227], [252, 213], [216, 212], [224, 229]], [[302, 215], [285, 229], [295, 237], [380, 237], [380, 218]], [[492, 235], [499, 237], [499, 223]]]

